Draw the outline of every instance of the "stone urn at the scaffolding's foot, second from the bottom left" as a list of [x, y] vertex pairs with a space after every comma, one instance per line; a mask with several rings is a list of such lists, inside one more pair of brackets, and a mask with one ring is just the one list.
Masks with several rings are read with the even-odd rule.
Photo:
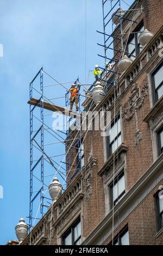
[[53, 179], [52, 183], [48, 186], [48, 189], [53, 202], [56, 202], [62, 193], [62, 185], [57, 177]]

